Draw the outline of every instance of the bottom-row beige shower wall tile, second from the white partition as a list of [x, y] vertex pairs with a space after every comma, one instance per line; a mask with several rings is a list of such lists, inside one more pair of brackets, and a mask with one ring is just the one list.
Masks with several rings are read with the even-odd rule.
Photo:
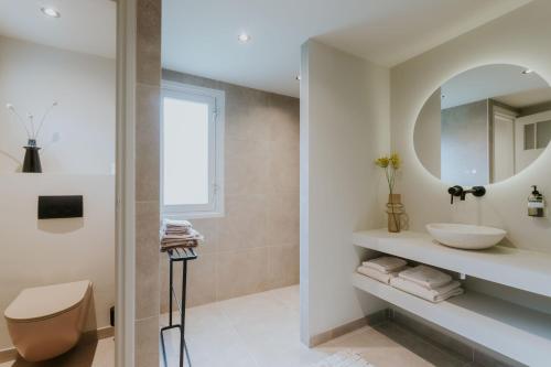
[[226, 300], [260, 292], [268, 285], [268, 248], [253, 248], [216, 255], [217, 296]]

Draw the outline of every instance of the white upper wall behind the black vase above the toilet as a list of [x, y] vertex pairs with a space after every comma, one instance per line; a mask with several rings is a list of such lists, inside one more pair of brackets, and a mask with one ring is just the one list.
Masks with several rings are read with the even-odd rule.
[[0, 36], [0, 172], [20, 170], [26, 144], [6, 104], [40, 118], [57, 100], [39, 138], [43, 171], [109, 174], [115, 162], [115, 60]]

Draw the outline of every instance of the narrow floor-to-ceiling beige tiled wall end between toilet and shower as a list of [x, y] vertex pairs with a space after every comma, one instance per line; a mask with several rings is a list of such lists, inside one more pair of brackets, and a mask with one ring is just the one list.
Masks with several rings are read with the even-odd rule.
[[136, 366], [159, 366], [161, 0], [137, 2]]

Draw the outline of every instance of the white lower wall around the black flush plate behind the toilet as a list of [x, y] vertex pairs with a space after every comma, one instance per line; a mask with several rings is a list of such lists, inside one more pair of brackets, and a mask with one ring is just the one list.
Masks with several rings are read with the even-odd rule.
[[[24, 288], [88, 279], [97, 327], [115, 303], [115, 176], [0, 175], [0, 310]], [[84, 218], [36, 219], [39, 195], [84, 195]], [[0, 349], [11, 346], [0, 317]]]

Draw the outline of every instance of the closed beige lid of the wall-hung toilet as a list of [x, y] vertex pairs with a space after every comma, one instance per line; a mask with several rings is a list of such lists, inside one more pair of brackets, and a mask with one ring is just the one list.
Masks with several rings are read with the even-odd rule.
[[4, 316], [20, 322], [53, 317], [79, 305], [90, 285], [89, 280], [84, 280], [24, 289], [6, 309]]

